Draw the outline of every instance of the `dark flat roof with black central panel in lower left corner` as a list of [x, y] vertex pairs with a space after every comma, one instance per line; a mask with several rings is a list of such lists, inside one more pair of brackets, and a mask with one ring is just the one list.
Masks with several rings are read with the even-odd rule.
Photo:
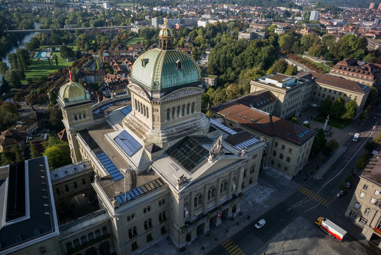
[[0, 224], [0, 254], [58, 235], [46, 157], [0, 167], [0, 176], [3, 178], [0, 179], [0, 215], [6, 215]]

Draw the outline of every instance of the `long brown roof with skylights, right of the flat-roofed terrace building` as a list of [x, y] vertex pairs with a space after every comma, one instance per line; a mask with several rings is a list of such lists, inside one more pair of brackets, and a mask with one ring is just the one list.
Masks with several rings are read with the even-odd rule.
[[371, 87], [368, 87], [364, 84], [360, 84], [359, 82], [347, 80], [343, 77], [333, 76], [330, 74], [308, 72], [301, 74], [299, 77], [310, 81], [313, 80], [315, 82], [319, 82], [325, 85], [337, 87], [338, 89], [345, 89], [348, 91], [355, 91], [363, 94], [369, 92], [372, 89]]

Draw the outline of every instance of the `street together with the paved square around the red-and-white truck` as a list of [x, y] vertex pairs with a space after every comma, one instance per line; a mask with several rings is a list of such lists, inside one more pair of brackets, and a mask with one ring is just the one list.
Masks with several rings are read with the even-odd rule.
[[[342, 197], [336, 197], [338, 185], [343, 182], [352, 169], [357, 158], [364, 152], [363, 145], [376, 137], [381, 127], [371, 129], [376, 124], [375, 117], [380, 115], [378, 108], [360, 126], [355, 128], [360, 133], [357, 142], [352, 142], [353, 132], [347, 136], [343, 146], [346, 151], [331, 165], [330, 169], [319, 179], [309, 177], [296, 192], [282, 200], [276, 207], [267, 211], [251, 224], [241, 229], [233, 236], [220, 242], [208, 254], [276, 254], [282, 248], [290, 254], [381, 254], [373, 243], [360, 236], [361, 224], [344, 216], [352, 195], [356, 189], [359, 177], [355, 176], [352, 187]], [[358, 123], [357, 120], [353, 123]], [[310, 160], [316, 160], [317, 157]], [[294, 181], [303, 183], [306, 168]], [[345, 229], [348, 234], [344, 242], [332, 239], [330, 235], [315, 227], [314, 221], [323, 216]], [[255, 229], [254, 224], [259, 219], [265, 219], [266, 224], [261, 229]], [[303, 223], [303, 225], [300, 225]], [[228, 240], [228, 241], [227, 241]], [[312, 242], [312, 240], [315, 240]], [[234, 245], [231, 245], [234, 242]], [[317, 244], [320, 244], [319, 245]], [[323, 247], [322, 247], [323, 246]], [[322, 251], [322, 248], [324, 251]], [[319, 252], [320, 251], [320, 252]]]

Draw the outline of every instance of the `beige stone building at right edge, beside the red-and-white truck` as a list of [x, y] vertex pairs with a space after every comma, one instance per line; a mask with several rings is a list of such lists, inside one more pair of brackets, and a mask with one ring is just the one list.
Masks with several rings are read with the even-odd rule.
[[[381, 247], [381, 155], [375, 154], [360, 175], [345, 216], [363, 228], [361, 235]], [[380, 161], [380, 162], [379, 162]]]

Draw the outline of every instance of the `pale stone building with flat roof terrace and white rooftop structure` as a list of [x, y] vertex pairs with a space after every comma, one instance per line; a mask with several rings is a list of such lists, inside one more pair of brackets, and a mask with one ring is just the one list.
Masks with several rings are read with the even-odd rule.
[[[312, 84], [308, 79], [280, 73], [259, 77], [252, 80], [250, 84], [250, 92], [270, 90], [279, 99], [275, 110], [269, 112], [281, 119], [298, 116], [300, 111], [309, 105], [309, 98], [312, 94]], [[254, 105], [256, 108], [257, 106]]]

